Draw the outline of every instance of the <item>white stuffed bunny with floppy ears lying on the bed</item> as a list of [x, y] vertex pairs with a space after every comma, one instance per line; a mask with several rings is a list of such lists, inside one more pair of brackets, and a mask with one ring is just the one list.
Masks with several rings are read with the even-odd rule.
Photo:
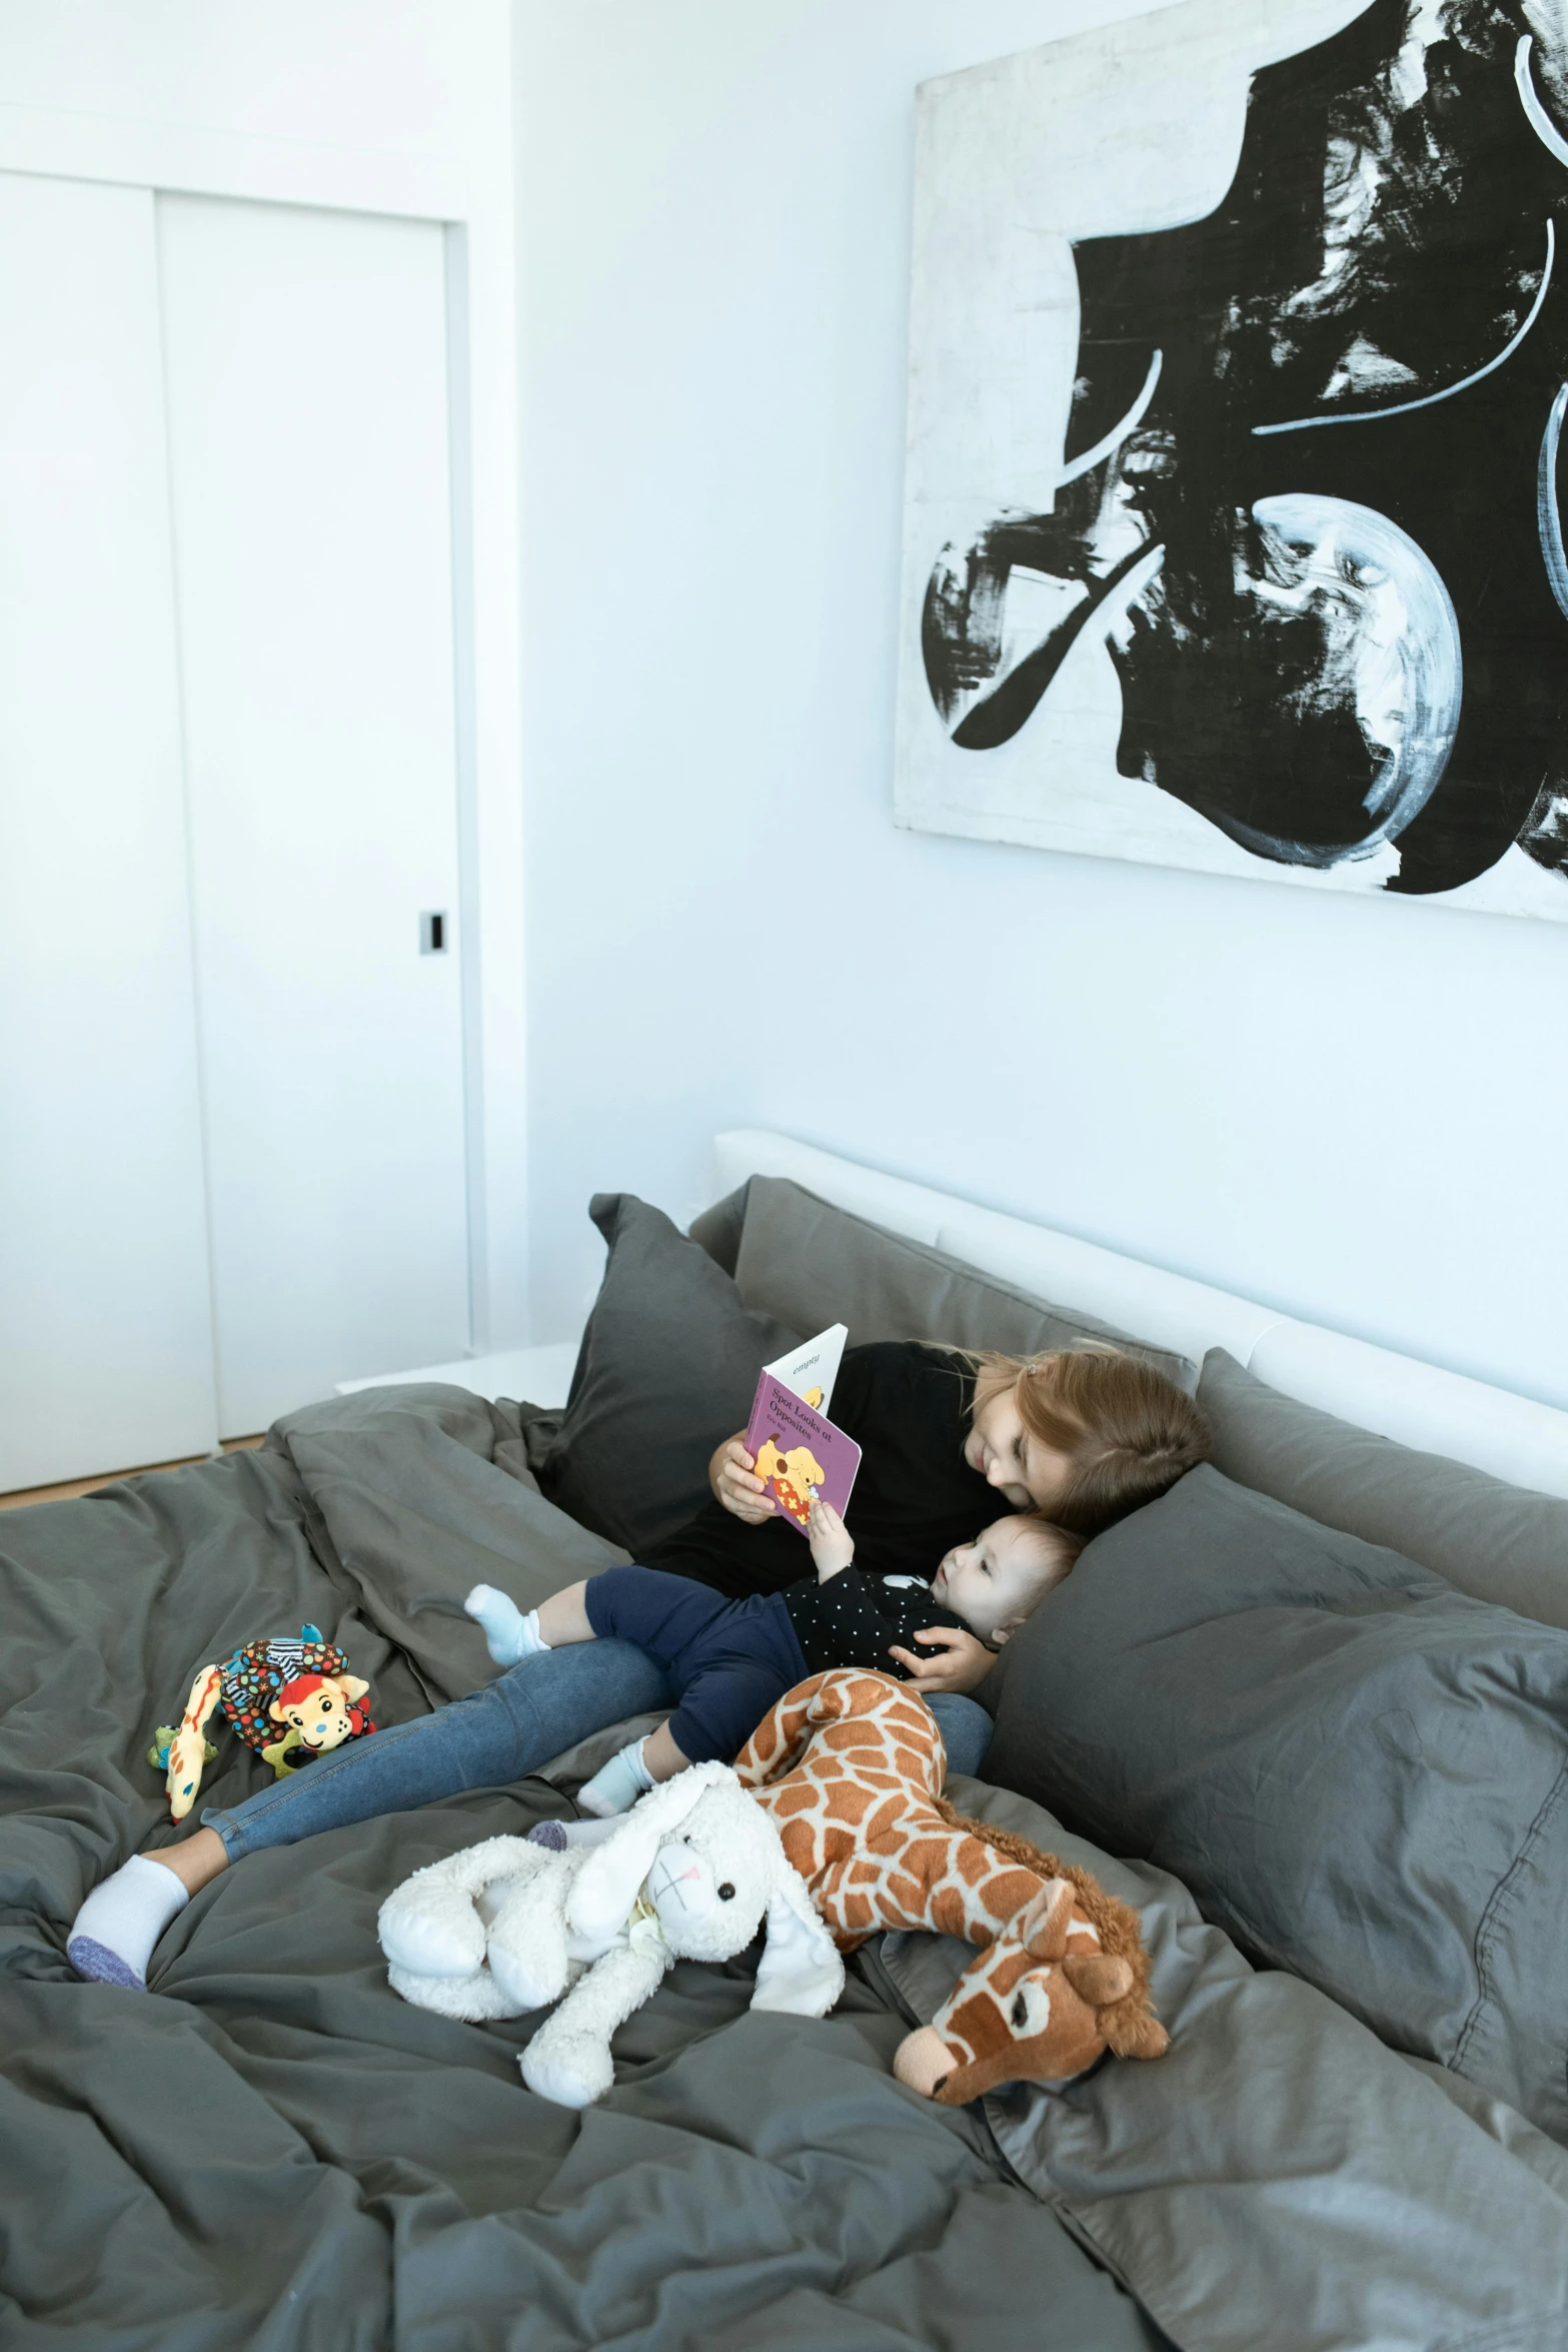
[[529, 2091], [588, 2107], [614, 2082], [609, 2042], [675, 1959], [733, 1959], [766, 1919], [752, 2009], [823, 2018], [844, 1962], [785, 1860], [771, 1813], [729, 1764], [693, 1764], [595, 1846], [491, 1837], [416, 1870], [376, 1931], [404, 2002], [515, 2018], [571, 1985], [522, 2053]]

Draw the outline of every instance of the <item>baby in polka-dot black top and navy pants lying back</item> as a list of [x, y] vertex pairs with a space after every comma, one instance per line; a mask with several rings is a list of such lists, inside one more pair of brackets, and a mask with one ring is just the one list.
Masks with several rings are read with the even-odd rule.
[[999, 1649], [1084, 1548], [1051, 1519], [1011, 1512], [954, 1545], [926, 1585], [853, 1569], [853, 1536], [827, 1503], [811, 1505], [809, 1538], [816, 1578], [738, 1602], [663, 1569], [604, 1569], [524, 1618], [505, 1592], [475, 1585], [463, 1606], [498, 1665], [618, 1635], [658, 1658], [679, 1693], [668, 1724], [623, 1748], [583, 1788], [585, 1811], [625, 1813], [689, 1764], [729, 1764], [788, 1689], [830, 1665], [907, 1679], [896, 1644], [917, 1630], [966, 1625]]

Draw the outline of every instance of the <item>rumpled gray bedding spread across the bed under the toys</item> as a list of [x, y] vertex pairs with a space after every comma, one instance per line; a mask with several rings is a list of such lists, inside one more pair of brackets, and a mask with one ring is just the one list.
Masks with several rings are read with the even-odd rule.
[[[708, 1247], [682, 1261], [705, 1312], [708, 1270], [729, 1284], [736, 1263], [722, 1232]], [[635, 1289], [668, 1338], [679, 1298], [654, 1296], [644, 1258]], [[957, 1315], [959, 1277], [938, 1279]], [[576, 1395], [599, 1430], [607, 1329]], [[750, 1959], [679, 1964], [616, 2037], [599, 2107], [534, 2098], [515, 2058], [529, 2020], [407, 2006], [374, 1919], [421, 1863], [567, 1813], [618, 1731], [517, 1788], [249, 1858], [174, 1924], [146, 1997], [78, 1983], [63, 1938], [85, 1889], [174, 1835], [146, 1748], [195, 1665], [313, 1621], [369, 1677], [378, 1722], [473, 1689], [494, 1672], [458, 1606], [473, 1583], [529, 1606], [623, 1557], [609, 1475], [597, 1531], [541, 1491], [559, 1491], [571, 1437], [574, 1406], [397, 1388], [294, 1414], [259, 1454], [0, 1517], [7, 2347], [1561, 2352], [1568, 2150], [1389, 2046], [1312, 1969], [1253, 1966], [1180, 1879], [1018, 1788], [952, 1795], [1138, 1905], [1164, 2060], [929, 2105], [891, 2053], [961, 1952], [889, 1936], [825, 2020], [752, 2016]], [[1027, 1745], [1023, 1708], [1020, 1679], [1004, 1752]], [[226, 1738], [205, 1795], [263, 1776]]]

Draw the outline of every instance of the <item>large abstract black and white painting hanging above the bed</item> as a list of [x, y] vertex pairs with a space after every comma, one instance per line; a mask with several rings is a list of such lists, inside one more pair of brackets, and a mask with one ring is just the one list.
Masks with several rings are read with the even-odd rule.
[[914, 195], [900, 823], [1568, 920], [1568, 7], [1159, 9]]

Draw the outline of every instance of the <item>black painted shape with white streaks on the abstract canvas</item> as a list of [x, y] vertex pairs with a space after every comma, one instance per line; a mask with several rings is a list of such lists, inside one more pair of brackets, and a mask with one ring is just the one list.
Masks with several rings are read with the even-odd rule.
[[[1392, 887], [1443, 891], [1516, 837], [1568, 870], [1547, 430], [1568, 383], [1568, 165], [1526, 120], [1521, 7], [1448, 0], [1425, 89], [1401, 64], [1410, 14], [1373, 0], [1253, 78], [1213, 214], [1074, 247], [1067, 454], [1114, 433], [1159, 353], [1154, 393], [1051, 515], [945, 550], [924, 656], [952, 741], [992, 748], [1119, 609], [1112, 576], [1164, 548], [1110, 633], [1121, 771], [1276, 861], [1394, 840]], [[1535, 45], [1561, 127], [1552, 64]], [[1077, 604], [999, 675], [1016, 567]], [[1382, 682], [1392, 729], [1368, 717], [1389, 579], [1413, 616]]]

